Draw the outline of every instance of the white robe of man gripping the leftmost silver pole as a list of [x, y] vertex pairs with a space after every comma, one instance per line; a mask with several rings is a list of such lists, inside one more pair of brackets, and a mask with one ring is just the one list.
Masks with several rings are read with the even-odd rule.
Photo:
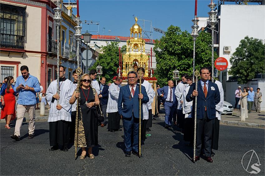
[[72, 105], [70, 105], [69, 100], [73, 95], [75, 87], [69, 79], [60, 81], [60, 85], [59, 104], [62, 106], [61, 110], [56, 109], [57, 100], [52, 97], [57, 93], [57, 79], [52, 81], [47, 89], [46, 99], [50, 105], [48, 122], [55, 122], [58, 120], [71, 121]]

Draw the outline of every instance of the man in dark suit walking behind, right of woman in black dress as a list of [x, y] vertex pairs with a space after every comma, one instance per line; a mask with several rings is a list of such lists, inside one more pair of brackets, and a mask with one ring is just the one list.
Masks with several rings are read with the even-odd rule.
[[100, 78], [100, 93], [99, 93], [99, 101], [100, 101], [100, 107], [102, 110], [102, 113], [104, 114], [104, 121], [101, 122], [101, 127], [105, 126], [106, 123], [106, 117], [107, 117], [107, 104], [108, 104], [108, 85], [106, 85], [106, 78], [101, 77]]

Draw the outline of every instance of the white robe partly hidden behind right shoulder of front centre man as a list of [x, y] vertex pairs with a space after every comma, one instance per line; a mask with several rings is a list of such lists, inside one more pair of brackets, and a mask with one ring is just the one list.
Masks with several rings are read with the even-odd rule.
[[142, 104], [143, 120], [148, 120], [149, 110], [152, 109], [152, 102], [154, 101], [156, 93], [154, 89], [152, 89], [152, 85], [147, 80], [144, 80], [141, 85], [145, 87], [147, 96], [149, 98], [149, 101], [147, 103]]

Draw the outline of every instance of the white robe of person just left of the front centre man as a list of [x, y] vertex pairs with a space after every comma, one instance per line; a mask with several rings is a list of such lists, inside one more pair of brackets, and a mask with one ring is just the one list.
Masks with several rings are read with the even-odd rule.
[[108, 104], [106, 112], [118, 112], [118, 97], [120, 93], [120, 87], [112, 83], [108, 87]]

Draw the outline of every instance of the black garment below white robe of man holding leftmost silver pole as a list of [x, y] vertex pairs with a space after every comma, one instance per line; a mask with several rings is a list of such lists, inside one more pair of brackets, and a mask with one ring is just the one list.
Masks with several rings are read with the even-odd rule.
[[59, 120], [49, 122], [50, 127], [50, 146], [67, 147], [70, 137], [71, 122]]

